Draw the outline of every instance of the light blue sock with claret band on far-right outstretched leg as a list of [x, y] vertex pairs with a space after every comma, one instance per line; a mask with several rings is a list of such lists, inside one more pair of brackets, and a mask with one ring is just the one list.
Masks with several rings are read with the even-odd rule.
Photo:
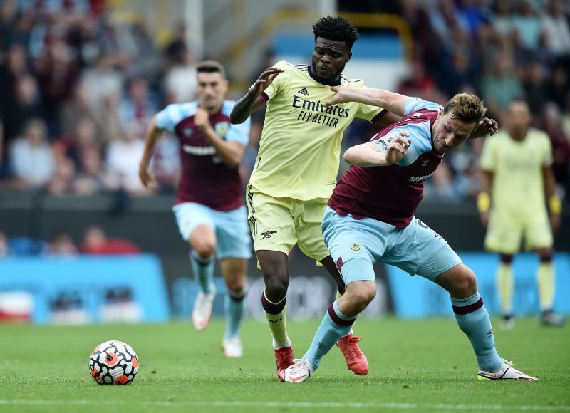
[[487, 308], [479, 293], [467, 298], [452, 298], [451, 304], [457, 324], [467, 334], [479, 368], [486, 372], [496, 372], [504, 364], [494, 347], [494, 336]]

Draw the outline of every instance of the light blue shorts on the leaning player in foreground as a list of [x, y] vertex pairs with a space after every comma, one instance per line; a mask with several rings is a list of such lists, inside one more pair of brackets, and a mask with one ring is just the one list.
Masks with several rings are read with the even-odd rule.
[[415, 217], [402, 229], [372, 218], [341, 216], [327, 206], [322, 228], [346, 284], [375, 281], [376, 261], [431, 281], [462, 263], [445, 239]]

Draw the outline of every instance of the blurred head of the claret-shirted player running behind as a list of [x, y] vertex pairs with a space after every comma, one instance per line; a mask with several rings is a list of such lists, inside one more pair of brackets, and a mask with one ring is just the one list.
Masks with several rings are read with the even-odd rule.
[[198, 64], [196, 71], [200, 106], [208, 111], [218, 110], [228, 88], [224, 66], [217, 61], [203, 61]]

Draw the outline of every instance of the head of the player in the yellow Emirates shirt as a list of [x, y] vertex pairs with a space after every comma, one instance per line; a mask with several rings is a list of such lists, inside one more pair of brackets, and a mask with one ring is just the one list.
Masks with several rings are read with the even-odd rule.
[[351, 60], [351, 49], [358, 38], [358, 31], [343, 17], [327, 16], [314, 24], [313, 33], [313, 73], [323, 83], [333, 82], [341, 75], [346, 62]]

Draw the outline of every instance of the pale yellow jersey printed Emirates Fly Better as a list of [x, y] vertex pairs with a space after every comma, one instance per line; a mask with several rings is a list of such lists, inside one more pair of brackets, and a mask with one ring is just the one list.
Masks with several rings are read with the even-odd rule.
[[[336, 186], [343, 131], [354, 117], [376, 122], [388, 112], [362, 103], [325, 108], [334, 92], [314, 79], [310, 66], [286, 61], [275, 66], [284, 72], [261, 93], [267, 108], [249, 183], [271, 197], [328, 198]], [[340, 84], [365, 87], [344, 75]]]

